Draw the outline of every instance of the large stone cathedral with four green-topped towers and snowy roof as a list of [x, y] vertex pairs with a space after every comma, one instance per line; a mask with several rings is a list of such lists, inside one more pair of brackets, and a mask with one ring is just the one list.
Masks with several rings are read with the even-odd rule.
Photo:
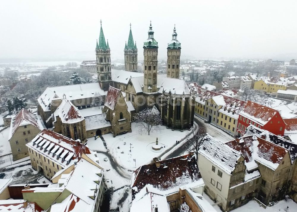
[[[109, 84], [108, 94], [106, 99], [110, 99], [109, 93], [115, 88], [120, 89], [127, 106], [119, 107], [123, 111], [117, 113], [125, 114], [124, 117], [118, 117], [117, 122], [113, 122], [115, 125], [121, 123], [122, 119], [126, 119], [130, 123], [133, 119], [133, 111], [135, 113], [145, 109], [156, 106], [160, 111], [163, 125], [173, 130], [185, 130], [193, 126], [194, 122], [194, 107], [195, 107], [195, 93], [189, 89], [184, 79], [179, 79], [179, 65], [181, 55], [181, 43], [177, 40], [176, 28], [174, 26], [172, 39], [168, 43], [167, 47], [167, 74], [166, 76], [158, 75], [158, 42], [154, 38], [154, 30], [150, 23], [148, 30], [148, 38], [143, 43], [143, 70], [144, 73], [135, 73], [131, 75], [131, 72], [137, 72], [137, 47], [134, 43], [131, 24], [129, 31], [128, 43], [124, 48], [124, 60], [125, 71], [116, 71], [106, 69], [106, 66], [110, 66], [110, 49], [108, 44], [105, 44], [104, 34], [102, 31], [102, 23], [100, 28], [99, 42], [96, 44], [96, 57], [97, 57], [97, 70], [98, 81], [103, 90], [107, 89]], [[100, 55], [99, 52], [102, 52]], [[99, 58], [109, 58], [108, 64], [103, 64]], [[110, 71], [109, 71], [110, 70]], [[108, 75], [111, 72], [111, 77], [108, 78], [104, 75]], [[113, 72], [117, 72], [114, 76]], [[120, 72], [120, 73], [119, 73]], [[103, 75], [103, 78], [102, 78]], [[124, 85], [119, 83], [119, 77], [128, 80]], [[111, 79], [111, 81], [110, 81]], [[116, 100], [114, 100], [116, 101]], [[133, 111], [129, 114], [126, 113], [129, 105], [132, 105]], [[130, 106], [131, 108], [131, 106]], [[110, 110], [110, 106], [105, 103], [104, 111]], [[130, 110], [131, 111], [131, 110]], [[106, 119], [113, 119], [112, 114], [106, 114]], [[110, 116], [110, 117], [108, 117]], [[117, 130], [129, 131], [129, 127], [116, 127]], [[121, 132], [117, 132], [119, 134]]]

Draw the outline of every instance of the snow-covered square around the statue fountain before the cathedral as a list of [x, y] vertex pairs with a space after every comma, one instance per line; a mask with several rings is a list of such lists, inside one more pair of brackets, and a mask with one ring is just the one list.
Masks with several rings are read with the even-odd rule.
[[[103, 138], [106, 141], [110, 154], [115, 157], [116, 161], [127, 169], [135, 170], [140, 165], [151, 162], [154, 157], [159, 157], [159, 155], [167, 149], [176, 145], [176, 141], [182, 140], [189, 133], [191, 133], [191, 131], [172, 131], [165, 126], [158, 126], [158, 129], [153, 130], [150, 132], [150, 135], [148, 135], [147, 132], [140, 131], [139, 124], [133, 122], [132, 133], [116, 136], [115, 138], [109, 133], [103, 135]], [[159, 141], [158, 145], [163, 147], [161, 151], [153, 151], [151, 148], [152, 145], [155, 144], [157, 137]], [[94, 138], [88, 138], [87, 144], [89, 148], [94, 151], [106, 151], [100, 138], [97, 138], [96, 141]], [[130, 144], [132, 144], [131, 152]], [[135, 159], [136, 162], [133, 159]]]

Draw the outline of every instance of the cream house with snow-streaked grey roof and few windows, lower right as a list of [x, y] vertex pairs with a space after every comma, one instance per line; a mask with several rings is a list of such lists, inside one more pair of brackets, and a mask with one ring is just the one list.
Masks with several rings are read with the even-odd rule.
[[204, 192], [222, 211], [233, 210], [255, 196], [260, 173], [247, 172], [241, 152], [209, 135], [203, 138], [198, 152]]

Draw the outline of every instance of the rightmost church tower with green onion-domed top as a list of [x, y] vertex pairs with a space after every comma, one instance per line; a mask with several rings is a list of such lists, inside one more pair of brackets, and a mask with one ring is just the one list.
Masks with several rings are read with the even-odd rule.
[[179, 62], [181, 56], [181, 43], [177, 40], [177, 33], [173, 29], [172, 40], [167, 47], [167, 77], [179, 78]]

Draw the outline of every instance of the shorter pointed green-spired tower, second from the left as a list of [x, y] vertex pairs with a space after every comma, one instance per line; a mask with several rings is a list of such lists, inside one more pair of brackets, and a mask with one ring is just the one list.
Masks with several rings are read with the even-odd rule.
[[138, 59], [137, 59], [137, 47], [136, 42], [134, 44], [132, 31], [131, 31], [131, 23], [130, 23], [130, 33], [128, 38], [128, 44], [125, 44], [124, 49], [124, 57], [125, 57], [125, 70], [126, 71], [133, 71], [137, 72], [137, 65], [138, 65]]

